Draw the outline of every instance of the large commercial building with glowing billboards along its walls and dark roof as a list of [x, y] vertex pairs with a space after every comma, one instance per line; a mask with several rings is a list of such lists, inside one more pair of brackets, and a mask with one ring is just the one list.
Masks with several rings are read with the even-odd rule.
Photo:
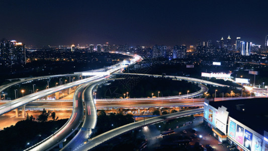
[[204, 123], [238, 150], [268, 150], [268, 98], [204, 103]]

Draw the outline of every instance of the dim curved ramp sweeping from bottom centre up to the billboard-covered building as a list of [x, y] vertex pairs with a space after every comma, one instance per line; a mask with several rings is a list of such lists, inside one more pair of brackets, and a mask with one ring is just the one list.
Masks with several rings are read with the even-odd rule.
[[128, 131], [137, 129], [137, 128], [141, 128], [143, 126], [146, 125], [151, 125], [151, 124], [155, 124], [167, 119], [173, 119], [173, 118], [178, 118], [178, 117], [183, 117], [183, 116], [188, 116], [188, 115], [192, 115], [192, 114], [200, 114], [203, 113], [204, 109], [194, 109], [194, 110], [187, 110], [187, 111], [182, 111], [182, 112], [177, 112], [177, 113], [172, 113], [172, 114], [166, 114], [166, 115], [162, 115], [162, 116], [158, 116], [158, 117], [153, 117], [153, 118], [149, 118], [146, 119], [145, 121], [141, 120], [135, 123], [130, 123], [115, 129], [112, 129], [108, 132], [105, 132], [101, 135], [98, 135], [94, 138], [92, 138], [90, 141], [88, 141], [86, 144], [84, 144], [83, 146], [81, 146], [79, 148], [79, 150], [90, 150], [96, 146], [98, 146], [99, 144], [114, 138], [118, 135], [121, 135], [123, 133], [126, 133]]

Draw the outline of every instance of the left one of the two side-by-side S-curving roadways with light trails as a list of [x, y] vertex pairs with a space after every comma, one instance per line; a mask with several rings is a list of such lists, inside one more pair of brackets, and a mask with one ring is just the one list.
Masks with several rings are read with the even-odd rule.
[[83, 86], [80, 86], [76, 90], [73, 99], [73, 112], [67, 123], [44, 141], [39, 142], [40, 144], [38, 143], [35, 147], [30, 148], [31, 150], [49, 150], [65, 139], [66, 136], [74, 132], [83, 117], [83, 103], [81, 97], [83, 89]]

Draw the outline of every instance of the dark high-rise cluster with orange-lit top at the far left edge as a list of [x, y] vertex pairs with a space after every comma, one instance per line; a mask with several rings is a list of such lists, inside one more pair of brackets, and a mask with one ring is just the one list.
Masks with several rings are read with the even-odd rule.
[[12, 67], [14, 65], [23, 65], [26, 63], [25, 45], [16, 40], [0, 41], [0, 65]]

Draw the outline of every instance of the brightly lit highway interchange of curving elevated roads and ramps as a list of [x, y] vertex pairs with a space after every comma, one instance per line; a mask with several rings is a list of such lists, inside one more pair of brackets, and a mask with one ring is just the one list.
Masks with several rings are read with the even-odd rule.
[[[138, 57], [136, 55], [132, 55], [132, 56], [133, 56], [133, 60], [131, 61], [131, 63], [135, 63], [136, 61], [141, 59], [140, 57]], [[109, 74], [114, 73], [116, 71], [122, 70], [122, 68], [124, 68], [124, 67], [126, 67], [126, 65], [122, 66], [121, 64], [116, 64], [115, 67], [110, 67], [107, 70], [107, 72]], [[175, 97], [161, 97], [161, 98], [153, 98], [153, 99], [152, 98], [150, 98], [150, 99], [141, 98], [141, 99], [121, 99], [121, 100], [98, 100], [98, 102], [95, 106], [95, 103], [93, 100], [94, 98], [92, 95], [92, 89], [94, 88], [94, 86], [97, 83], [109, 78], [110, 77], [109, 74], [108, 75], [94, 75], [94, 76], [87, 78], [87, 79], [75, 81], [75, 82], [68, 83], [65, 85], [46, 89], [46, 90], [43, 90], [43, 91], [40, 91], [40, 92], [37, 92], [34, 94], [30, 94], [30, 95], [24, 96], [22, 98], [18, 98], [16, 100], [13, 100], [11, 102], [8, 102], [8, 103], [1, 105], [0, 106], [0, 115], [7, 113], [9, 111], [12, 111], [15, 108], [26, 105], [30, 102], [33, 102], [41, 97], [53, 94], [55, 92], [58, 92], [58, 91], [61, 91], [61, 90], [67, 89], [67, 88], [71, 88], [73, 86], [80, 85], [77, 88], [77, 90], [75, 91], [75, 94], [73, 97], [73, 110], [72, 110], [72, 115], [69, 118], [68, 122], [65, 123], [65, 125], [63, 127], [61, 127], [57, 132], [55, 132], [54, 134], [52, 134], [51, 136], [49, 136], [45, 140], [31, 146], [30, 148], [27, 148], [26, 150], [49, 150], [49, 149], [53, 148], [54, 146], [61, 144], [62, 141], [64, 141], [69, 135], [71, 135], [74, 132], [74, 130], [78, 128], [79, 124], [82, 122], [84, 109], [85, 109], [85, 120], [83, 121], [84, 123], [82, 125], [82, 128], [78, 131], [78, 133], [74, 136], [74, 138], [66, 146], [64, 146], [62, 148], [62, 150], [67, 150], [70, 148], [71, 149], [79, 148], [79, 150], [80, 149], [87, 150], [87, 149], [90, 149], [90, 148], [100, 144], [101, 142], [108, 140], [108, 138], [110, 139], [110, 138], [112, 138], [118, 134], [124, 133], [128, 130], [144, 126], [144, 123], [142, 123], [142, 122], [132, 123], [132, 124], [126, 125], [123, 128], [117, 128], [110, 133], [107, 132], [107, 133], [104, 133], [98, 137], [95, 137], [92, 141], [89, 141], [85, 145], [83, 145], [83, 142], [91, 135], [91, 133], [92, 133], [91, 129], [94, 129], [96, 126], [96, 122], [97, 122], [96, 107], [98, 107], [98, 106], [105, 105], [107, 107], [108, 102], [109, 102], [109, 106], [114, 106], [114, 107], [125, 106], [126, 104], [128, 104], [129, 107], [135, 107], [135, 106], [138, 107], [141, 104], [145, 105], [145, 106], [146, 105], [147, 106], [158, 105], [160, 107], [160, 106], [163, 106], [164, 104], [170, 104], [171, 102], [172, 103], [182, 103], [182, 104], [192, 104], [192, 105], [200, 106], [201, 104], [203, 104], [202, 103], [203, 101], [195, 100], [195, 102], [194, 102], [193, 101], [194, 99], [188, 99], [188, 98], [197, 97], [197, 96], [200, 96], [203, 93], [207, 92], [208, 88], [202, 84], [209, 84], [209, 85], [213, 85], [213, 86], [226, 87], [225, 85], [211, 83], [208, 81], [203, 81], [203, 80], [194, 79], [194, 78], [167, 76], [168, 78], [187, 80], [190, 82], [199, 83], [199, 87], [201, 88], [201, 90], [198, 92], [192, 93], [192, 94], [175, 96]], [[117, 74], [117, 73], [115, 73], [115, 74]], [[150, 74], [142, 74], [142, 75], [151, 76]], [[159, 77], [161, 75], [153, 75], [153, 76]], [[36, 78], [35, 80], [38, 80], [38, 79], [40, 79], [40, 78]], [[33, 79], [31, 79], [31, 80], [33, 80]], [[2, 87], [2, 88], [4, 89], [4, 87]], [[84, 98], [84, 103], [85, 103], [84, 105], [83, 105], [82, 98]], [[181, 100], [181, 99], [184, 99], [184, 100]], [[191, 115], [191, 114], [198, 114], [201, 112], [203, 112], [203, 109], [192, 110], [192, 111], [188, 111], [188, 112], [180, 112], [180, 114], [168, 114], [168, 115], [161, 116], [161, 117], [150, 118], [150, 119], [146, 120], [145, 125], [160, 122], [164, 119], [176, 118], [176, 117], [186, 116], [186, 115]], [[88, 130], [89, 130], [89, 132], [88, 132]], [[103, 135], [106, 135], [109, 137], [106, 137]], [[102, 137], [106, 137], [106, 139], [101, 139]], [[100, 139], [98, 139], [98, 138], [100, 138]], [[88, 147], [90, 147], [90, 148], [88, 148]]]

